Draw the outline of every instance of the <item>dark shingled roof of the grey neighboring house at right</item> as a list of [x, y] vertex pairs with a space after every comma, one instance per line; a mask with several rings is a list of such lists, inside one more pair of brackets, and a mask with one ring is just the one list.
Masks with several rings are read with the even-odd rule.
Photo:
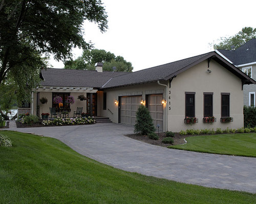
[[235, 50], [217, 49], [234, 65], [256, 62], [256, 39], [251, 39]]

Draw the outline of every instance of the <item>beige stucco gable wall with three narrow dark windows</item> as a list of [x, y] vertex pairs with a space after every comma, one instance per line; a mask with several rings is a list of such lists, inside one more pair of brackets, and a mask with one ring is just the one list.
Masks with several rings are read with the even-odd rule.
[[[237, 129], [243, 127], [243, 91], [239, 78], [211, 60], [207, 73], [207, 60], [180, 74], [172, 81], [170, 94], [170, 110], [168, 111], [168, 130], [179, 132], [186, 129]], [[199, 122], [189, 125], [184, 123], [185, 117], [185, 92], [195, 94], [195, 116]], [[213, 92], [213, 115], [217, 122], [203, 123], [204, 92]], [[233, 122], [222, 123], [221, 118], [221, 93], [230, 93], [230, 117]]]

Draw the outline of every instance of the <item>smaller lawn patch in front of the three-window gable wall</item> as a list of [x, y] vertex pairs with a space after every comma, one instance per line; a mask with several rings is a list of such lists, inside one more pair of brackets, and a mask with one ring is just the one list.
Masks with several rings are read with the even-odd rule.
[[256, 157], [256, 133], [204, 135], [187, 137], [186, 140], [186, 144], [169, 146], [169, 148]]

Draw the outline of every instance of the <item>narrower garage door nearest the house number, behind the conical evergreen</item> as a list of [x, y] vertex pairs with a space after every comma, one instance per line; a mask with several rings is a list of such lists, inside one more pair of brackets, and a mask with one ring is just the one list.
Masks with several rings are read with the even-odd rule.
[[[163, 131], [163, 94], [148, 95], [147, 96], [147, 108], [150, 111], [150, 115], [153, 119], [153, 124], [157, 129], [157, 124], [160, 125], [159, 131]], [[157, 129], [158, 130], [158, 129]]]

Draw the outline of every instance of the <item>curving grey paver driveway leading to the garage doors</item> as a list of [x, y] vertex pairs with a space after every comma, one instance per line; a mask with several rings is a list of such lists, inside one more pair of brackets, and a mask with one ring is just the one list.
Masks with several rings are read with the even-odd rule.
[[123, 136], [133, 126], [97, 123], [10, 128], [59, 139], [80, 154], [126, 171], [182, 183], [256, 193], [256, 158], [202, 154], [146, 144]]

